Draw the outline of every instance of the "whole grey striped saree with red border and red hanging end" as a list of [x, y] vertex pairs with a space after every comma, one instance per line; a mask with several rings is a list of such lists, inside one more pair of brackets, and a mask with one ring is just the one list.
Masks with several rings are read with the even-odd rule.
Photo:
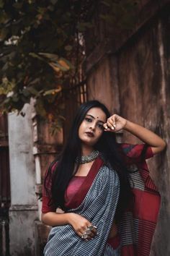
[[[118, 176], [112, 168], [103, 165], [102, 159], [97, 158], [91, 174], [88, 174], [82, 186], [81, 193], [76, 194], [73, 199], [76, 208], [68, 212], [89, 219], [94, 226], [97, 226], [99, 234], [95, 239], [84, 242], [76, 236], [71, 226], [55, 227], [48, 237], [46, 256], [149, 256], [161, 197], [149, 175], [146, 160], [140, 158], [144, 146], [145, 144], [120, 145], [125, 153], [124, 160], [130, 171], [130, 184], [135, 195], [133, 205], [125, 211], [118, 225], [120, 247], [113, 249], [107, 244], [120, 191]], [[152, 156], [151, 147], [148, 147], [145, 158]], [[87, 184], [90, 181], [89, 189]]]

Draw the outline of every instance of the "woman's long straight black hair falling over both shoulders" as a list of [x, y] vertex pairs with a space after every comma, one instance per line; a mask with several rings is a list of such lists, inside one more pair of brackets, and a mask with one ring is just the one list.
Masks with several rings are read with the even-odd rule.
[[[91, 108], [100, 108], [104, 111], [107, 118], [110, 114], [106, 106], [99, 101], [88, 101], [82, 104], [77, 111], [75, 119], [68, 135], [68, 140], [61, 155], [50, 165], [48, 174], [45, 181], [48, 180], [48, 176], [52, 175], [52, 188], [50, 191], [51, 199], [55, 203], [56, 208], [60, 207], [66, 210], [64, 203], [64, 195], [68, 182], [75, 171], [75, 160], [77, 156], [81, 156], [81, 140], [79, 139], [79, 127], [84, 120], [86, 113]], [[122, 150], [120, 150], [119, 144], [116, 142], [114, 132], [103, 132], [102, 137], [94, 148], [102, 153], [104, 162], [112, 166], [117, 171], [120, 179], [120, 198], [117, 205], [116, 219], [119, 220], [122, 213], [128, 207], [130, 200], [133, 199], [133, 192], [130, 188], [130, 179], [128, 169], [123, 161]], [[55, 171], [52, 171], [54, 163], [56, 163]], [[45, 182], [45, 188], [46, 182]], [[48, 192], [48, 191], [47, 191]]]

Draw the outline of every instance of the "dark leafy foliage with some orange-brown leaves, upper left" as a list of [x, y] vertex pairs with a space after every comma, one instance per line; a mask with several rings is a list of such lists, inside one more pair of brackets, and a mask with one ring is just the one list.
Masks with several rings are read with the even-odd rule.
[[105, 22], [130, 25], [133, 0], [0, 0], [1, 111], [22, 113], [35, 98], [37, 114], [63, 120], [65, 89], [80, 82], [82, 35], [99, 2], [110, 9]]

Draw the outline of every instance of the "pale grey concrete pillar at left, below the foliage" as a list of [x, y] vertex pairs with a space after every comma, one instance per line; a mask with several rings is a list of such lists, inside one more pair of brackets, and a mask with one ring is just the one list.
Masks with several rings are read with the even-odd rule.
[[27, 104], [24, 111], [24, 117], [9, 114], [9, 250], [12, 256], [35, 255], [34, 222], [37, 219], [37, 198], [32, 155], [32, 107]]

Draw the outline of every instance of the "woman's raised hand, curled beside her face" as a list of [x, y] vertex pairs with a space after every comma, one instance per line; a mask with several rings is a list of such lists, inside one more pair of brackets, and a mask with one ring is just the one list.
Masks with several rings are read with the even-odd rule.
[[107, 119], [107, 122], [103, 125], [104, 131], [118, 132], [125, 127], [127, 120], [114, 114]]

